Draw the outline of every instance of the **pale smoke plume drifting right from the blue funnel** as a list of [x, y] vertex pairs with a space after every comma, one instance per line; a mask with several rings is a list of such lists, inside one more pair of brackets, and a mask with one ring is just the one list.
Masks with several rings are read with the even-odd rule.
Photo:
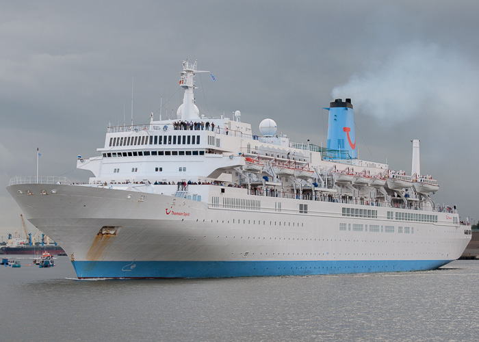
[[416, 42], [368, 69], [335, 87], [333, 98], [352, 98], [355, 109], [389, 124], [472, 114], [479, 70], [458, 51]]

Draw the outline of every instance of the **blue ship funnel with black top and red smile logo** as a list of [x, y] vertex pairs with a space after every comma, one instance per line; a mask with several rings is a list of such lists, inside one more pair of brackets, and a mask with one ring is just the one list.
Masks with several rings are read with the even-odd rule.
[[[328, 144], [333, 150], [348, 151], [349, 158], [356, 159], [356, 132], [354, 131], [354, 112], [350, 98], [343, 102], [341, 98], [331, 102], [328, 120]], [[346, 153], [340, 153], [341, 158], [346, 158]]]

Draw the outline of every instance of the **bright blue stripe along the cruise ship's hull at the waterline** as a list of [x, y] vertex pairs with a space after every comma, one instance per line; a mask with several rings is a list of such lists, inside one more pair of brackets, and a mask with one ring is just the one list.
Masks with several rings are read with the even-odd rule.
[[409, 272], [452, 260], [360, 261], [73, 261], [78, 278], [222, 278]]

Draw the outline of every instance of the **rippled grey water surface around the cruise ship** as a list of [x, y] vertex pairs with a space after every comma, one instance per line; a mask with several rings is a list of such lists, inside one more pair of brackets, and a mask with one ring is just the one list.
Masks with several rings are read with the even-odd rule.
[[479, 341], [479, 261], [428, 272], [76, 280], [0, 267], [1, 341]]

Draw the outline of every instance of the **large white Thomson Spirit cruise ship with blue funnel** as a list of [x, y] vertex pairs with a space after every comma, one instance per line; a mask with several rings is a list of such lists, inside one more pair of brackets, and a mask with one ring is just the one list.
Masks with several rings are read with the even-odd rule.
[[[327, 146], [295, 143], [265, 118], [200, 114], [197, 62], [183, 61], [177, 118], [107, 127], [78, 156], [88, 184], [18, 176], [8, 192], [62, 246], [78, 278], [209, 278], [406, 272], [461, 257], [471, 228], [419, 166], [357, 155], [350, 98], [328, 108]], [[207, 73], [207, 72], [206, 72]]]

